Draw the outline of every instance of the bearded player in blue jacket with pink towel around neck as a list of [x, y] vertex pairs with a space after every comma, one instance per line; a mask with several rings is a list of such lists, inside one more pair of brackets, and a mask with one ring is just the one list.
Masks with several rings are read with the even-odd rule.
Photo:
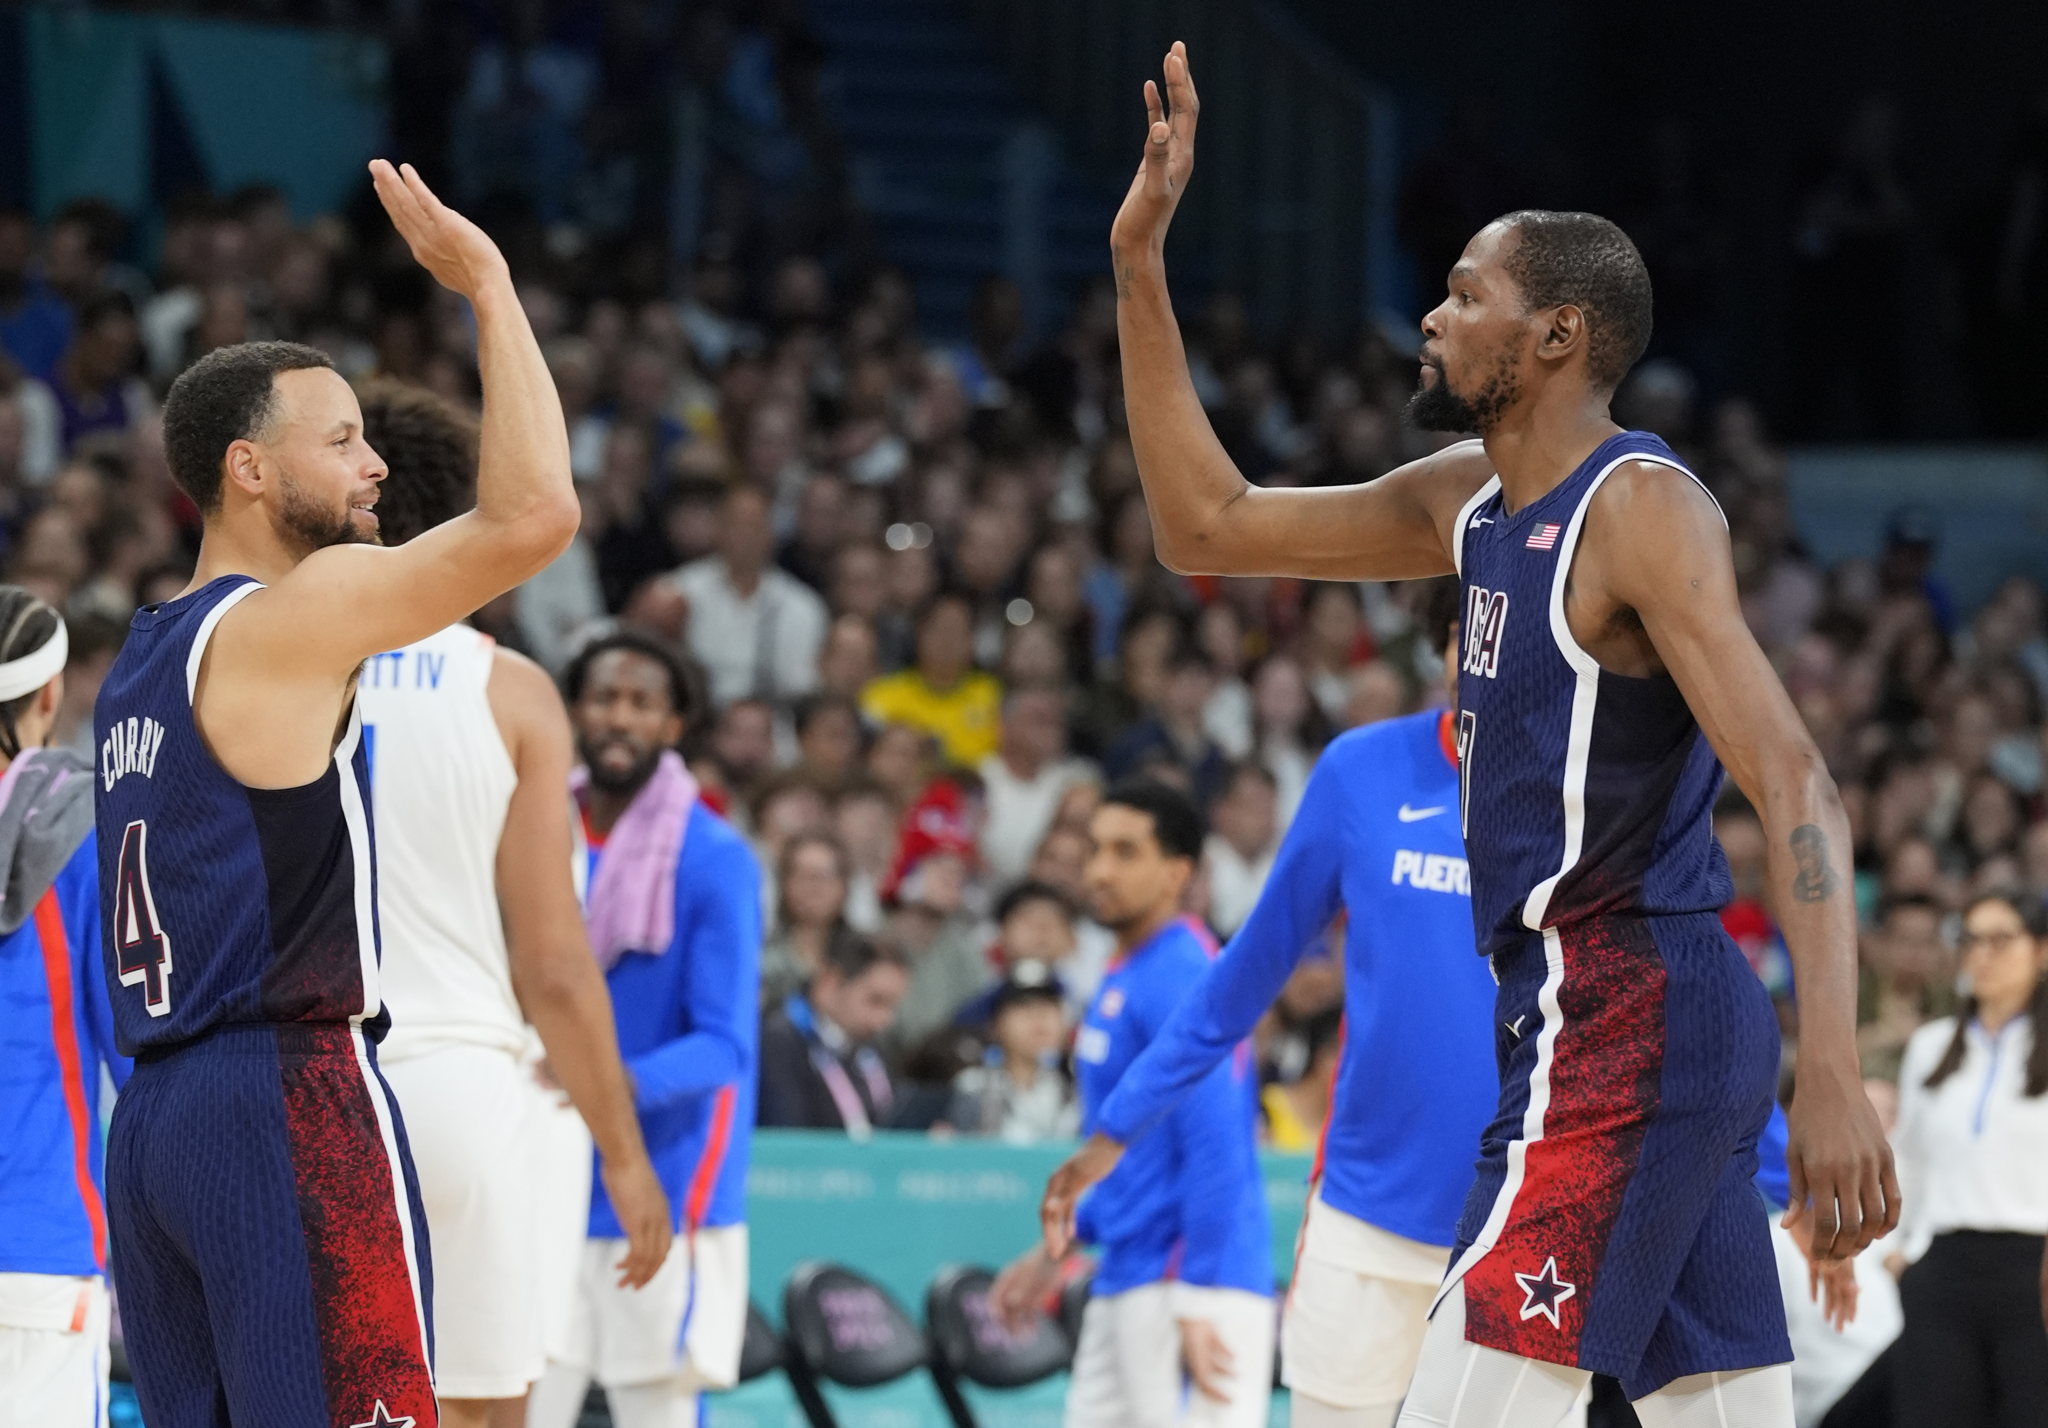
[[760, 1037], [760, 867], [676, 753], [694, 700], [682, 659], [621, 630], [563, 673], [590, 949], [682, 1242], [643, 1289], [616, 1283], [618, 1215], [598, 1185], [565, 1342], [528, 1424], [571, 1428], [592, 1377], [618, 1428], [698, 1422], [739, 1381], [748, 1328], [748, 1146]]

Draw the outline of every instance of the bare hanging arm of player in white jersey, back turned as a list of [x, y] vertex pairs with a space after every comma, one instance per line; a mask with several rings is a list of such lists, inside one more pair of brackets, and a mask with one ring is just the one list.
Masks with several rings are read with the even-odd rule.
[[627, 1232], [618, 1268], [625, 1283], [639, 1287], [668, 1258], [670, 1205], [633, 1115], [612, 998], [590, 955], [569, 880], [569, 716], [547, 671], [510, 651], [498, 651], [487, 689], [518, 773], [498, 839], [498, 908], [512, 990], [541, 1033], [549, 1070], [590, 1125], [604, 1191]]

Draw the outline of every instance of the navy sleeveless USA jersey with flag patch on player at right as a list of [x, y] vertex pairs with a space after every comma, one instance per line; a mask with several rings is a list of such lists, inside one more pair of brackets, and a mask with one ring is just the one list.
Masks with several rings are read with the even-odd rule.
[[1714, 841], [1720, 761], [1669, 675], [1602, 669], [1565, 622], [1585, 507], [1628, 460], [1671, 466], [1649, 432], [1602, 442], [1516, 514], [1493, 477], [1458, 514], [1460, 820], [1479, 951], [1608, 914], [1708, 912], [1733, 884]]

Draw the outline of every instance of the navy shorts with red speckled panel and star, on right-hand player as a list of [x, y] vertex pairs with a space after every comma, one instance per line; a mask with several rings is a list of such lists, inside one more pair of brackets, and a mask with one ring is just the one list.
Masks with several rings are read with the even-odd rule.
[[1778, 1021], [1712, 914], [1554, 927], [1495, 955], [1501, 1103], [1444, 1281], [1466, 1340], [1628, 1397], [1790, 1363], [1753, 1185]]

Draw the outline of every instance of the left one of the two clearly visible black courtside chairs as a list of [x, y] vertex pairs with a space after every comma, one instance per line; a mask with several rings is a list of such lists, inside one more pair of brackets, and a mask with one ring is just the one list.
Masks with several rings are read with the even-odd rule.
[[805, 1260], [782, 1285], [782, 1371], [811, 1428], [838, 1428], [819, 1383], [872, 1389], [924, 1369], [930, 1346], [895, 1299], [844, 1264]]

